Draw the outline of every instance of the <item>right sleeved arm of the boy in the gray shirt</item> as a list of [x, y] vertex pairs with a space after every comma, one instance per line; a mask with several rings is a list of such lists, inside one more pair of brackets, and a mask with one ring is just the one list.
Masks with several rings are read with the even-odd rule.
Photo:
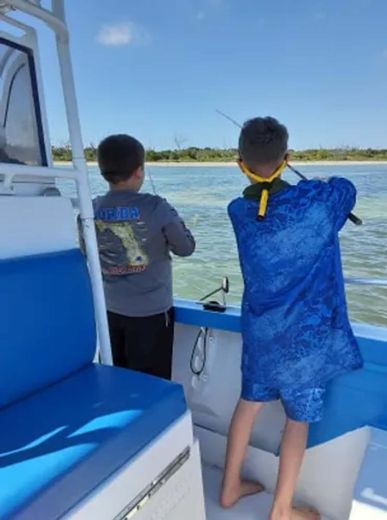
[[195, 251], [195, 239], [185, 226], [177, 211], [163, 200], [165, 224], [163, 233], [169, 249], [177, 256], [190, 256]]

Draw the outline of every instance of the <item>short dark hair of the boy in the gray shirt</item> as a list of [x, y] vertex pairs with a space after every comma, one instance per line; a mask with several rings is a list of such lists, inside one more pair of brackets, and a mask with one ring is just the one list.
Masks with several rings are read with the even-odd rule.
[[140, 141], [126, 134], [109, 135], [98, 145], [98, 166], [111, 184], [128, 180], [144, 165], [145, 150]]

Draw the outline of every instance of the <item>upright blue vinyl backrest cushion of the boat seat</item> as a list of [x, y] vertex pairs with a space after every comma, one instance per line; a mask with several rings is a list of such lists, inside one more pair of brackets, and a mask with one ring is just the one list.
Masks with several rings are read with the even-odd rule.
[[94, 308], [79, 249], [0, 260], [0, 408], [90, 364]]

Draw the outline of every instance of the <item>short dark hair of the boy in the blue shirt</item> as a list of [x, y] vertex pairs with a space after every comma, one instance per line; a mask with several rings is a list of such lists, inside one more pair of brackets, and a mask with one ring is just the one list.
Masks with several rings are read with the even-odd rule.
[[239, 136], [239, 155], [248, 166], [282, 159], [288, 149], [289, 134], [274, 117], [246, 121]]

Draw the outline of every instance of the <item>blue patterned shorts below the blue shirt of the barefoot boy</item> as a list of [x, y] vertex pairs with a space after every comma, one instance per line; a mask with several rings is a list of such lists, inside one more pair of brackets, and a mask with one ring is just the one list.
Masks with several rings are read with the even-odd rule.
[[243, 381], [241, 398], [245, 401], [281, 400], [286, 416], [293, 421], [313, 423], [322, 418], [325, 388], [275, 389]]

